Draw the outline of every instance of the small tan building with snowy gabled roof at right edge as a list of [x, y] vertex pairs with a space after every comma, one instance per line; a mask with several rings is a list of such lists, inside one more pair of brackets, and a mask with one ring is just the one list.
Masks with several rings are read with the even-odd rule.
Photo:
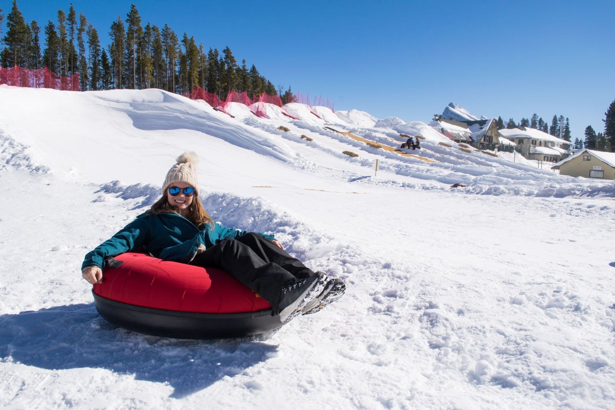
[[615, 179], [615, 152], [581, 149], [551, 169], [560, 170], [560, 175]]

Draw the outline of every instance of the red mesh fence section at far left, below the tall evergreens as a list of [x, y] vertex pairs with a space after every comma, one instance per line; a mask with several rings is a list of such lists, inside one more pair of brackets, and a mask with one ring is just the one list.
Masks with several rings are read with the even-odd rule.
[[79, 74], [60, 76], [52, 73], [47, 67], [38, 69], [21, 68], [19, 66], [11, 68], [0, 67], [0, 84], [34, 89], [81, 91]]

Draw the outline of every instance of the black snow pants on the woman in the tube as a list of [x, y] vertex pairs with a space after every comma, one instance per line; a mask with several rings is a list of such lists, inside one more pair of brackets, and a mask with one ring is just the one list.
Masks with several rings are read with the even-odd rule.
[[253, 232], [207, 248], [190, 264], [226, 270], [268, 301], [274, 314], [278, 313], [280, 291], [288, 280], [315, 275], [299, 259]]

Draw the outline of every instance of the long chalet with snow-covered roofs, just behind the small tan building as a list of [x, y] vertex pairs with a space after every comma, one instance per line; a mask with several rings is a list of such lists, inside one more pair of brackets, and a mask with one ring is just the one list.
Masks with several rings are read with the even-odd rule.
[[527, 159], [557, 162], [568, 152], [570, 142], [530, 127], [499, 130], [500, 135], [517, 144]]

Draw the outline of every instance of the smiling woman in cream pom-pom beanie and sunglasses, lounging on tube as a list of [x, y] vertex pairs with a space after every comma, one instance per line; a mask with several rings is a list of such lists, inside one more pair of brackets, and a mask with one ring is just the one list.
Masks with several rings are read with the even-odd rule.
[[198, 160], [194, 152], [178, 157], [151, 209], [85, 255], [87, 282], [102, 282], [105, 258], [143, 248], [167, 261], [226, 270], [266, 299], [282, 323], [341, 298], [344, 282], [312, 272], [272, 235], [216, 224], [199, 199]]

